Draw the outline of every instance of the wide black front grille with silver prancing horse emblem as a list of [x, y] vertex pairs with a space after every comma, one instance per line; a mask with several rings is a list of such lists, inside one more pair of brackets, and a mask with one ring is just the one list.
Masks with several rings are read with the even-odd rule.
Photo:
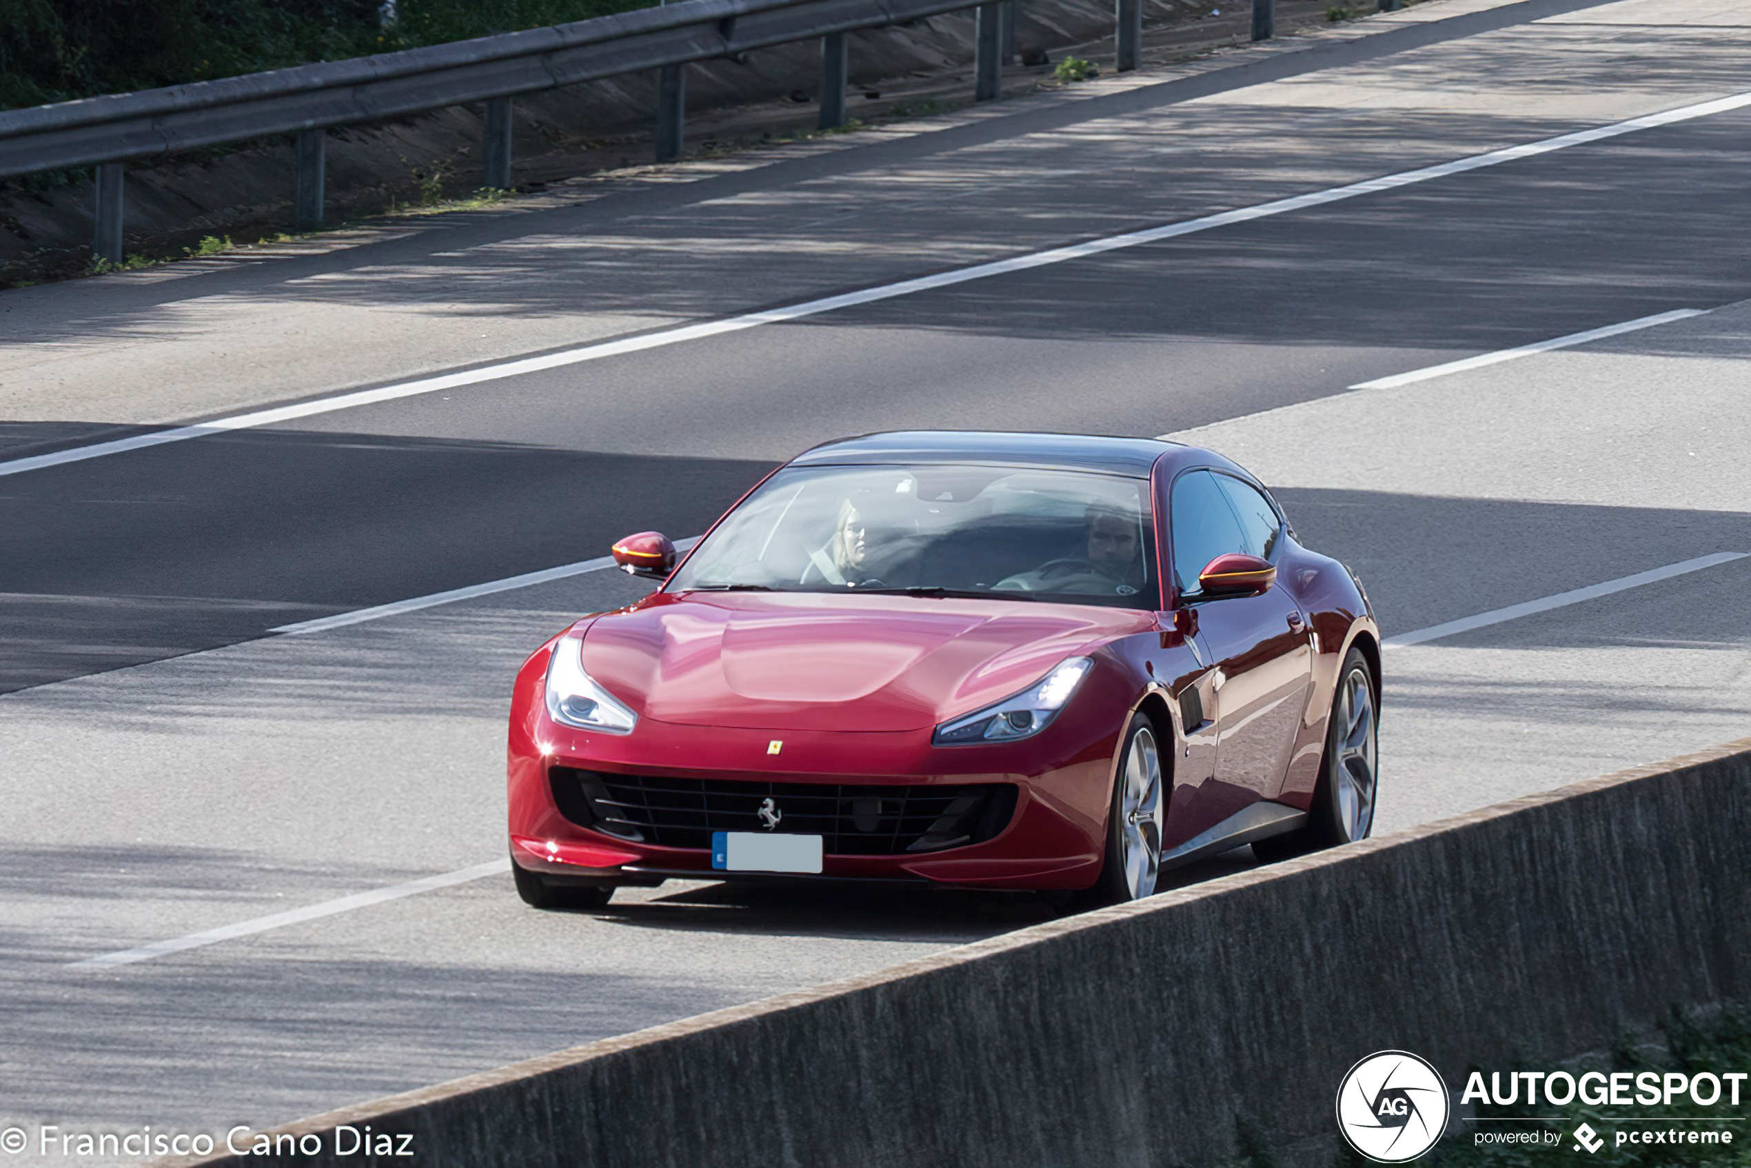
[[658, 779], [553, 767], [553, 802], [567, 820], [658, 848], [711, 848], [713, 832], [758, 832], [770, 799], [774, 830], [821, 835], [830, 856], [942, 851], [993, 839], [1016, 811], [1010, 783], [868, 786], [741, 779]]

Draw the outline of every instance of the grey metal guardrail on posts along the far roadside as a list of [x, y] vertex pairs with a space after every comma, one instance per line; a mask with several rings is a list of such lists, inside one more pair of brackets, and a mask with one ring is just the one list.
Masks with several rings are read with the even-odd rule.
[[[1016, 4], [1017, 0], [1007, 0]], [[1275, 0], [1254, 0], [1254, 39]], [[846, 33], [977, 9], [974, 98], [998, 96], [1012, 47], [1005, 0], [681, 0], [571, 25], [277, 68], [166, 89], [0, 112], [0, 177], [96, 166], [98, 259], [123, 259], [123, 177], [131, 159], [277, 133], [298, 135], [294, 222], [322, 222], [324, 144], [333, 126], [485, 102], [485, 186], [511, 187], [511, 100], [557, 86], [658, 72], [657, 161], [681, 156], [692, 61], [821, 39], [819, 126], [846, 121]], [[1142, 0], [1115, 0], [1119, 68], [1136, 68]]]

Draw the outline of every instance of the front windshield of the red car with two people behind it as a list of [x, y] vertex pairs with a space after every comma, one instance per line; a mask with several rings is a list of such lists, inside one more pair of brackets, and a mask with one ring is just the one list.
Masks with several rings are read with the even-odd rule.
[[769, 478], [671, 592], [923, 592], [1157, 608], [1149, 483], [998, 466], [802, 466]]

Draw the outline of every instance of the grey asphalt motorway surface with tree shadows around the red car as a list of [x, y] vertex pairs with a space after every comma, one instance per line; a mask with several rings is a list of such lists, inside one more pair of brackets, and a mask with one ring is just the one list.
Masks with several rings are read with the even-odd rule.
[[[1534, 12], [1443, 0], [1401, 21], [1473, 9], [1502, 26], [1390, 54], [1357, 47], [1368, 25], [1336, 30], [1326, 68], [1224, 88], [1203, 63], [1198, 96], [1171, 103], [1149, 77], [1117, 79], [853, 135], [783, 182], [763, 166], [784, 158], [667, 187], [634, 177], [574, 207], [294, 256], [292, 271], [5, 292], [21, 315], [0, 315], [0, 459], [1255, 205], [1751, 75], [1751, 25], [1719, 0], [1515, 25], [1501, 14]], [[713, 884], [534, 914], [489, 876], [68, 968], [501, 856], [511, 671], [639, 588], [599, 571], [266, 630], [583, 560], [629, 531], [693, 534], [823, 438], [968, 426], [1212, 445], [1361, 571], [1389, 636], [1751, 552], [1747, 187], [1740, 109], [0, 476], [0, 1122], [268, 1126], [1038, 919], [977, 897]], [[1348, 389], [1674, 308], [1712, 312]], [[1378, 828], [1746, 734], [1747, 583], [1751, 559], [1390, 650]], [[1236, 863], [1248, 853], [1182, 879]]]

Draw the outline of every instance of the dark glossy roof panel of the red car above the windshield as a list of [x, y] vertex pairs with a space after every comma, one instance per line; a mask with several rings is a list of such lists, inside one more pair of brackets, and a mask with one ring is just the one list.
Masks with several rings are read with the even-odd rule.
[[1149, 478], [1150, 468], [1178, 443], [1105, 434], [1030, 434], [1010, 431], [890, 431], [821, 443], [791, 466], [949, 464], [1024, 466]]

